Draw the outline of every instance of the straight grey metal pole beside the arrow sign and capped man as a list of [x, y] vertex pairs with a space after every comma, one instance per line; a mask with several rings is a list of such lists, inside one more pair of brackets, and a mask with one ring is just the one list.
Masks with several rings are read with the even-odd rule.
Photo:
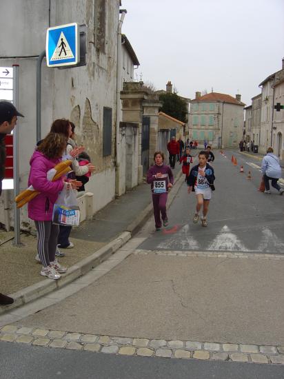
[[[13, 104], [19, 106], [19, 65], [13, 67]], [[19, 127], [13, 132], [13, 171], [14, 171], [14, 198], [19, 194]], [[14, 245], [20, 246], [20, 211], [14, 202]]]

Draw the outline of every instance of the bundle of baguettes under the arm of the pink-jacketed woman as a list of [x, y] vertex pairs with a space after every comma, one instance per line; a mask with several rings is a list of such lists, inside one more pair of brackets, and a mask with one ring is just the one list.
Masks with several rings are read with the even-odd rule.
[[[57, 181], [57, 179], [61, 178], [61, 176], [67, 174], [71, 171], [72, 161], [69, 159], [67, 161], [62, 161], [55, 165], [51, 170], [48, 171], [47, 177], [49, 181]], [[26, 203], [32, 200], [32, 198], [36, 197], [40, 192], [36, 191], [32, 185], [20, 192], [19, 195], [14, 199], [17, 203], [17, 208], [23, 207]]]

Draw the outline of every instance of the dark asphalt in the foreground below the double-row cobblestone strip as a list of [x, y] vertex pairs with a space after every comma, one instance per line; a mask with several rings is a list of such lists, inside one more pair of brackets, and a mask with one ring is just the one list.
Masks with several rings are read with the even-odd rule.
[[283, 379], [283, 366], [133, 358], [0, 342], [0, 379]]

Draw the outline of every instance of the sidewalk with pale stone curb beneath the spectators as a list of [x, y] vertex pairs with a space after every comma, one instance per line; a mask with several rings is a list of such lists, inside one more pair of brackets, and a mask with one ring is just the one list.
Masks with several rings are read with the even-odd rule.
[[[182, 180], [178, 181], [181, 167], [176, 167], [174, 176], [178, 185], [170, 192], [169, 202], [179, 189], [179, 182], [182, 183]], [[89, 272], [123, 246], [150, 215], [150, 186], [143, 183], [101, 209], [91, 221], [84, 221], [74, 228], [70, 236], [74, 248], [62, 249], [65, 257], [59, 259], [61, 264], [69, 267], [60, 280], [50, 280], [39, 274], [41, 265], [34, 259], [37, 254], [35, 236], [21, 234], [23, 246], [15, 247], [13, 233], [0, 230], [0, 289], [1, 293], [14, 298], [14, 304], [0, 307], [0, 314], [61, 288]]]

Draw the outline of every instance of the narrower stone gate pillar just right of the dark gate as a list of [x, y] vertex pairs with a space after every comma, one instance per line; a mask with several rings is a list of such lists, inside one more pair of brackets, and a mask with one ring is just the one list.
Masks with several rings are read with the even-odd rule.
[[159, 96], [151, 94], [148, 99], [143, 101], [144, 116], [150, 116], [150, 147], [149, 147], [149, 164], [153, 163], [154, 152], [158, 150], [158, 125], [159, 125]]

